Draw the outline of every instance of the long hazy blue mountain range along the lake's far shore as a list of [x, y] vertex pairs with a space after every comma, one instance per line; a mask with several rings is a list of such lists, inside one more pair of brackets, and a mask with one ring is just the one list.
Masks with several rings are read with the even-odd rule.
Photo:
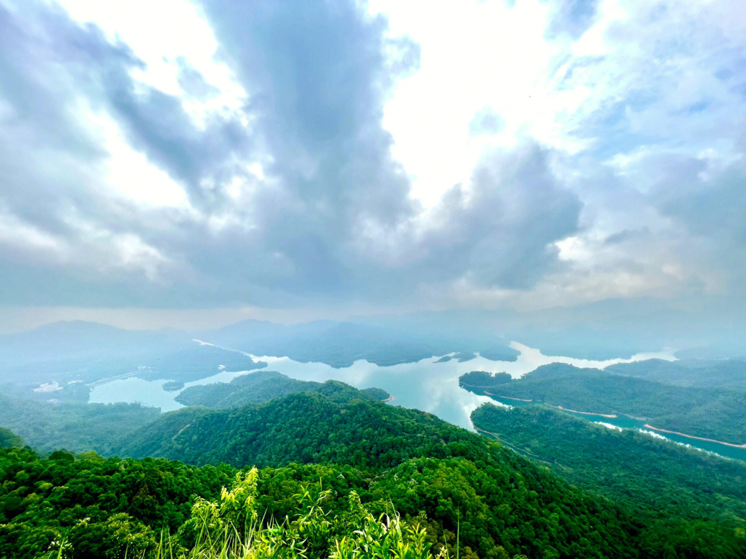
[[[193, 339], [219, 347], [198, 347]], [[288, 356], [295, 361], [318, 361], [333, 367], [348, 367], [358, 359], [386, 366], [454, 352], [465, 358], [479, 352], [489, 359], [503, 360], [514, 360], [518, 355], [500, 338], [486, 342], [436, 335], [422, 328], [392, 329], [328, 320], [290, 325], [243, 320], [197, 333], [126, 330], [72, 321], [0, 335], [0, 383], [30, 386], [66, 379], [93, 382], [133, 370], [144, 371], [137, 373], [143, 377], [148, 371], [169, 375], [160, 378], [178, 373], [188, 381], [209, 376], [205, 373], [213, 373], [218, 364], [228, 370], [257, 368], [250, 365], [248, 357], [225, 350]], [[217, 356], [219, 363], [213, 362], [210, 355]], [[236, 365], [229, 366], [227, 361]], [[239, 361], [243, 364], [237, 364]]]

